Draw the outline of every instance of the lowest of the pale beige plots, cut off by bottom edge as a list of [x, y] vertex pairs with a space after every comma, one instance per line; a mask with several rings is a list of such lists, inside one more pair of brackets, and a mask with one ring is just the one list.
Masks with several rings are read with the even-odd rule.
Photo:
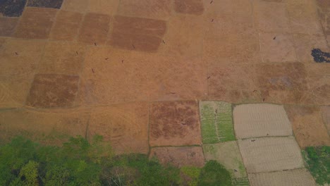
[[272, 173], [249, 174], [250, 184], [252, 186], [312, 186], [316, 185], [314, 178], [305, 168], [278, 171]]

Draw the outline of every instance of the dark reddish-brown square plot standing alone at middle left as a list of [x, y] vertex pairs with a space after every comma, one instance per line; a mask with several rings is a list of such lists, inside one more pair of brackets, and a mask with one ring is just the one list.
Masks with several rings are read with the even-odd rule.
[[73, 106], [78, 81], [79, 76], [76, 75], [35, 75], [26, 104], [39, 108]]

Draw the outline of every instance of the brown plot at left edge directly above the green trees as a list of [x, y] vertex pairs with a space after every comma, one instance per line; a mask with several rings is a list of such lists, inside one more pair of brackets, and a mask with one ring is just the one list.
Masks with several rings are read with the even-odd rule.
[[61, 145], [69, 137], [85, 137], [89, 117], [89, 112], [83, 109], [0, 111], [0, 139], [8, 142], [22, 135], [42, 144]]

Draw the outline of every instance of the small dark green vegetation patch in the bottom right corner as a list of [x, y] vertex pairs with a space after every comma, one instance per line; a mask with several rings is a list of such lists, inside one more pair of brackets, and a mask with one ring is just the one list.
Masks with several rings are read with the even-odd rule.
[[330, 184], [330, 147], [306, 147], [302, 150], [307, 168], [318, 185]]

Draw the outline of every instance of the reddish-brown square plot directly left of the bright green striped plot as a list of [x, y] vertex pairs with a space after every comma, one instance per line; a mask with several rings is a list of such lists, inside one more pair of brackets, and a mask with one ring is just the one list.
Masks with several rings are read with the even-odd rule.
[[197, 102], [152, 104], [149, 143], [151, 146], [201, 144]]

